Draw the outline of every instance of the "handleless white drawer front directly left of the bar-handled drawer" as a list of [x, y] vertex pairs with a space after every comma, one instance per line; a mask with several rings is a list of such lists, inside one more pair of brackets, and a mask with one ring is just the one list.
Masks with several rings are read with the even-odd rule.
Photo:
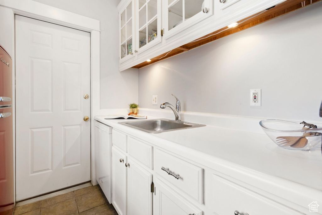
[[128, 137], [128, 154], [152, 169], [153, 147], [132, 137]]

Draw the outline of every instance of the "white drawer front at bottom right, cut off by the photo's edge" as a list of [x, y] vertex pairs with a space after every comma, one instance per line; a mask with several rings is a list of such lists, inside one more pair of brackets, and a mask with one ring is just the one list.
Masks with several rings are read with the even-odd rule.
[[212, 207], [216, 215], [234, 214], [235, 210], [250, 215], [303, 214], [215, 174], [212, 186]]

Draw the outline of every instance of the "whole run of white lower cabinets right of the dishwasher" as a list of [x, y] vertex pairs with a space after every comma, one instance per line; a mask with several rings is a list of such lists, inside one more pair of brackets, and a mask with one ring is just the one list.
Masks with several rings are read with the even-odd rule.
[[294, 192], [293, 185], [268, 182], [238, 165], [226, 168], [218, 162], [208, 167], [114, 133], [112, 203], [119, 215], [298, 215], [308, 211], [299, 200], [309, 204], [321, 199], [317, 194], [311, 200]]

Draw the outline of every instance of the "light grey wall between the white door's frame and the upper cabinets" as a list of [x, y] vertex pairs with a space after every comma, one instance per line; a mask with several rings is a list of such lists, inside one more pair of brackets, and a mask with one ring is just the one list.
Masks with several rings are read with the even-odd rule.
[[120, 0], [33, 0], [100, 21], [100, 109], [127, 108], [137, 103], [138, 70], [118, 71]]

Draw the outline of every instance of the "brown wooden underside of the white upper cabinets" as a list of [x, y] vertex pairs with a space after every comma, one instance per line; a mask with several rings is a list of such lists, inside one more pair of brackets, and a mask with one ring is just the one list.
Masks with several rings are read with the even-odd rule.
[[137, 64], [133, 66], [132, 68], [142, 68], [144, 66], [156, 63], [158, 61], [164, 60], [166, 58], [175, 56], [177, 54], [189, 51], [190, 49], [196, 48], [198, 46], [210, 43], [214, 40], [220, 39], [222, 37], [228, 36], [230, 34], [237, 33], [239, 31], [245, 30], [247, 28], [253, 27], [255, 25], [264, 23], [266, 21], [269, 21], [271, 19], [277, 18], [279, 16], [288, 14], [292, 11], [298, 10], [302, 7], [314, 4], [316, 2], [319, 2], [321, 0], [287, 0], [283, 3], [280, 3], [279, 5], [276, 5], [275, 7], [271, 7], [269, 10], [266, 10], [264, 12], [259, 12], [255, 15], [251, 15], [245, 19], [239, 20], [238, 23], [242, 23], [237, 25], [236, 27], [228, 28], [224, 27], [217, 31], [214, 31], [211, 34], [207, 34], [205, 36], [200, 37], [199, 39], [196, 39], [190, 43], [187, 43], [185, 45], [179, 46], [175, 49], [172, 49], [169, 52], [166, 52], [164, 54], [160, 54], [154, 58], [151, 59], [150, 62], [142, 62], [141, 64]]

